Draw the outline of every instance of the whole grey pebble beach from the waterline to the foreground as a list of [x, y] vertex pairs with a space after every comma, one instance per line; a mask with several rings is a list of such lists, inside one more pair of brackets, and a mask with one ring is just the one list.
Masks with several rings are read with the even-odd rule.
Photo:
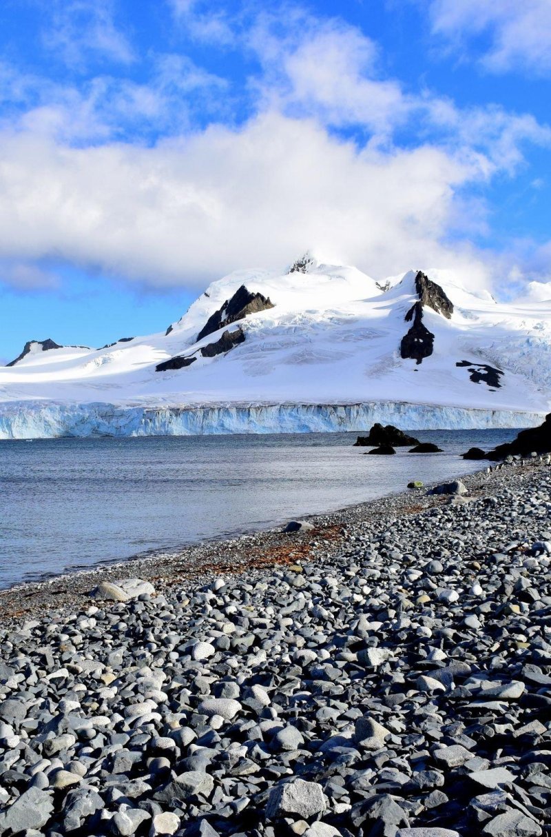
[[462, 481], [4, 591], [0, 834], [551, 834], [551, 468]]

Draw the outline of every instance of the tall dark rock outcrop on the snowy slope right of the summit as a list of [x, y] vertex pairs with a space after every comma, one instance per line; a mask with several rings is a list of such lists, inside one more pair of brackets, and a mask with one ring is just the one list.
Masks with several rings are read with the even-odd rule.
[[422, 322], [424, 308], [431, 308], [449, 320], [453, 314], [453, 303], [441, 286], [436, 285], [421, 270], [416, 275], [416, 294], [419, 299], [405, 317], [406, 322], [412, 322], [413, 325], [401, 339], [400, 357], [410, 358], [420, 364], [425, 357], [430, 357], [434, 347], [434, 334]]

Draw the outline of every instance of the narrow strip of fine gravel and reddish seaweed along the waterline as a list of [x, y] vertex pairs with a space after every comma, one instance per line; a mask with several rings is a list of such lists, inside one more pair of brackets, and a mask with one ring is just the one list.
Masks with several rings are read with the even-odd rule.
[[[483, 496], [492, 485], [507, 480], [508, 475], [528, 476], [541, 466], [524, 460], [492, 470], [488, 464], [472, 474], [450, 477], [461, 479], [469, 491], [469, 500]], [[495, 469], [495, 466], [494, 466]], [[431, 484], [434, 485], [434, 484]], [[29, 615], [44, 614], [65, 607], [84, 607], [89, 603], [89, 592], [102, 580], [116, 582], [138, 577], [156, 584], [162, 592], [185, 586], [200, 586], [220, 573], [239, 575], [247, 570], [258, 570], [307, 559], [327, 560], [339, 554], [345, 541], [346, 526], [377, 520], [384, 528], [385, 521], [396, 516], [420, 514], [434, 506], [442, 506], [449, 498], [427, 495], [431, 485], [422, 490], [404, 490], [374, 500], [344, 506], [325, 514], [312, 514], [301, 519], [314, 525], [313, 531], [284, 533], [282, 526], [243, 532], [235, 537], [220, 537], [191, 543], [177, 551], [154, 552], [151, 555], [129, 557], [123, 561], [100, 563], [74, 572], [60, 573], [38, 581], [16, 583], [0, 590], [0, 624]], [[245, 557], [237, 553], [245, 552]]]

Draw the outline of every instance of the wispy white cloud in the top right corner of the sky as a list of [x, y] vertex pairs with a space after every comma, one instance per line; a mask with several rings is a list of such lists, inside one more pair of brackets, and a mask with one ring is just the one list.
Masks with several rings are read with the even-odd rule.
[[488, 38], [482, 63], [492, 72], [551, 70], [549, 0], [431, 0], [430, 14], [432, 31], [458, 44], [464, 38]]

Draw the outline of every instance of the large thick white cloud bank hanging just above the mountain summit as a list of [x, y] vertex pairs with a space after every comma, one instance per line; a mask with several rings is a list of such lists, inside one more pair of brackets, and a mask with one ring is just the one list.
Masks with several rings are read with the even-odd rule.
[[307, 248], [378, 276], [457, 263], [440, 241], [456, 189], [479, 176], [431, 146], [359, 150], [277, 113], [153, 148], [4, 134], [0, 151], [0, 256], [151, 285], [197, 287]]

